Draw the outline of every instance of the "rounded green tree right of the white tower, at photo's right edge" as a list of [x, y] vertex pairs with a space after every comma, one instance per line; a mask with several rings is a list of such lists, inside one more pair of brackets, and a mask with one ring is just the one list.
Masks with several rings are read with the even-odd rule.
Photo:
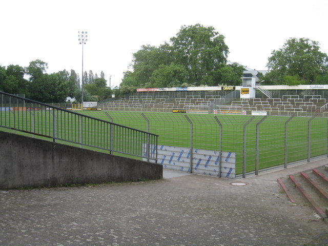
[[309, 38], [290, 38], [271, 54], [267, 64], [270, 72], [265, 80], [274, 85], [282, 84], [285, 76], [296, 75], [306, 84], [313, 84], [318, 75], [328, 71], [327, 54], [320, 51], [318, 42]]

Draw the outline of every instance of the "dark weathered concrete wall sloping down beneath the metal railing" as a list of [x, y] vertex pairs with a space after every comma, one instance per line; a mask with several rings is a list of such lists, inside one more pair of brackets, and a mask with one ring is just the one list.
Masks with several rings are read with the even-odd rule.
[[162, 178], [162, 166], [0, 131], [0, 189]]

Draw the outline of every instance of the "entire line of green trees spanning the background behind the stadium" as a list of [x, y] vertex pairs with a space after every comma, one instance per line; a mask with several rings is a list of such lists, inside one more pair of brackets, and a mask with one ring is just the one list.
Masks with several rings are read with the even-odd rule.
[[[143, 45], [133, 53], [129, 70], [114, 91], [106, 87], [103, 71], [100, 77], [92, 70], [85, 71], [84, 100], [103, 100], [137, 88], [240, 86], [244, 67], [227, 64], [228, 54], [224, 36], [213, 27], [182, 26], [169, 43]], [[0, 90], [46, 103], [63, 102], [68, 96], [80, 101], [79, 75], [74, 70], [47, 74], [47, 68], [42, 60], [31, 61], [26, 68], [0, 66]], [[279, 50], [272, 51], [267, 68], [268, 73], [259, 75], [262, 85], [328, 84], [327, 54], [309, 38], [286, 40]]]

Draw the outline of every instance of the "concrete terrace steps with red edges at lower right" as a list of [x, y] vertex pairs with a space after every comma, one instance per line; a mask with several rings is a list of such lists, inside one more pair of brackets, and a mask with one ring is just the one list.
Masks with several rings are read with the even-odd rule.
[[328, 168], [325, 166], [278, 178], [281, 188], [296, 206], [309, 206], [328, 223]]

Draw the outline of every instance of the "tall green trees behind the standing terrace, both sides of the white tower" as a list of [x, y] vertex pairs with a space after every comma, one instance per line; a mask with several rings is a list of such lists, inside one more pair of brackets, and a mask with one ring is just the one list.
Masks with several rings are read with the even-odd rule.
[[[256, 55], [256, 51], [253, 51]], [[213, 27], [182, 26], [169, 43], [144, 45], [133, 54], [132, 71], [124, 74], [121, 91], [142, 86], [240, 86], [244, 67], [227, 65], [229, 48]], [[290, 38], [268, 58], [269, 72], [259, 74], [263, 85], [328, 84], [328, 58], [319, 43]]]

